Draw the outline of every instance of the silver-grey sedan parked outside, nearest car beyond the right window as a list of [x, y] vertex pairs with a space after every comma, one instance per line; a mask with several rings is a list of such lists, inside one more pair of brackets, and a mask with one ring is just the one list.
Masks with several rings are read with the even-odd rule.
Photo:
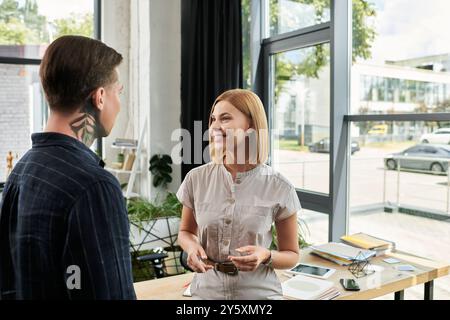
[[[401, 157], [401, 159], [398, 159]], [[420, 158], [420, 159], [417, 159]], [[443, 174], [448, 170], [450, 146], [441, 144], [418, 144], [402, 152], [394, 153], [384, 159], [386, 168], [396, 170], [400, 161], [400, 169], [427, 171], [432, 174]]]

